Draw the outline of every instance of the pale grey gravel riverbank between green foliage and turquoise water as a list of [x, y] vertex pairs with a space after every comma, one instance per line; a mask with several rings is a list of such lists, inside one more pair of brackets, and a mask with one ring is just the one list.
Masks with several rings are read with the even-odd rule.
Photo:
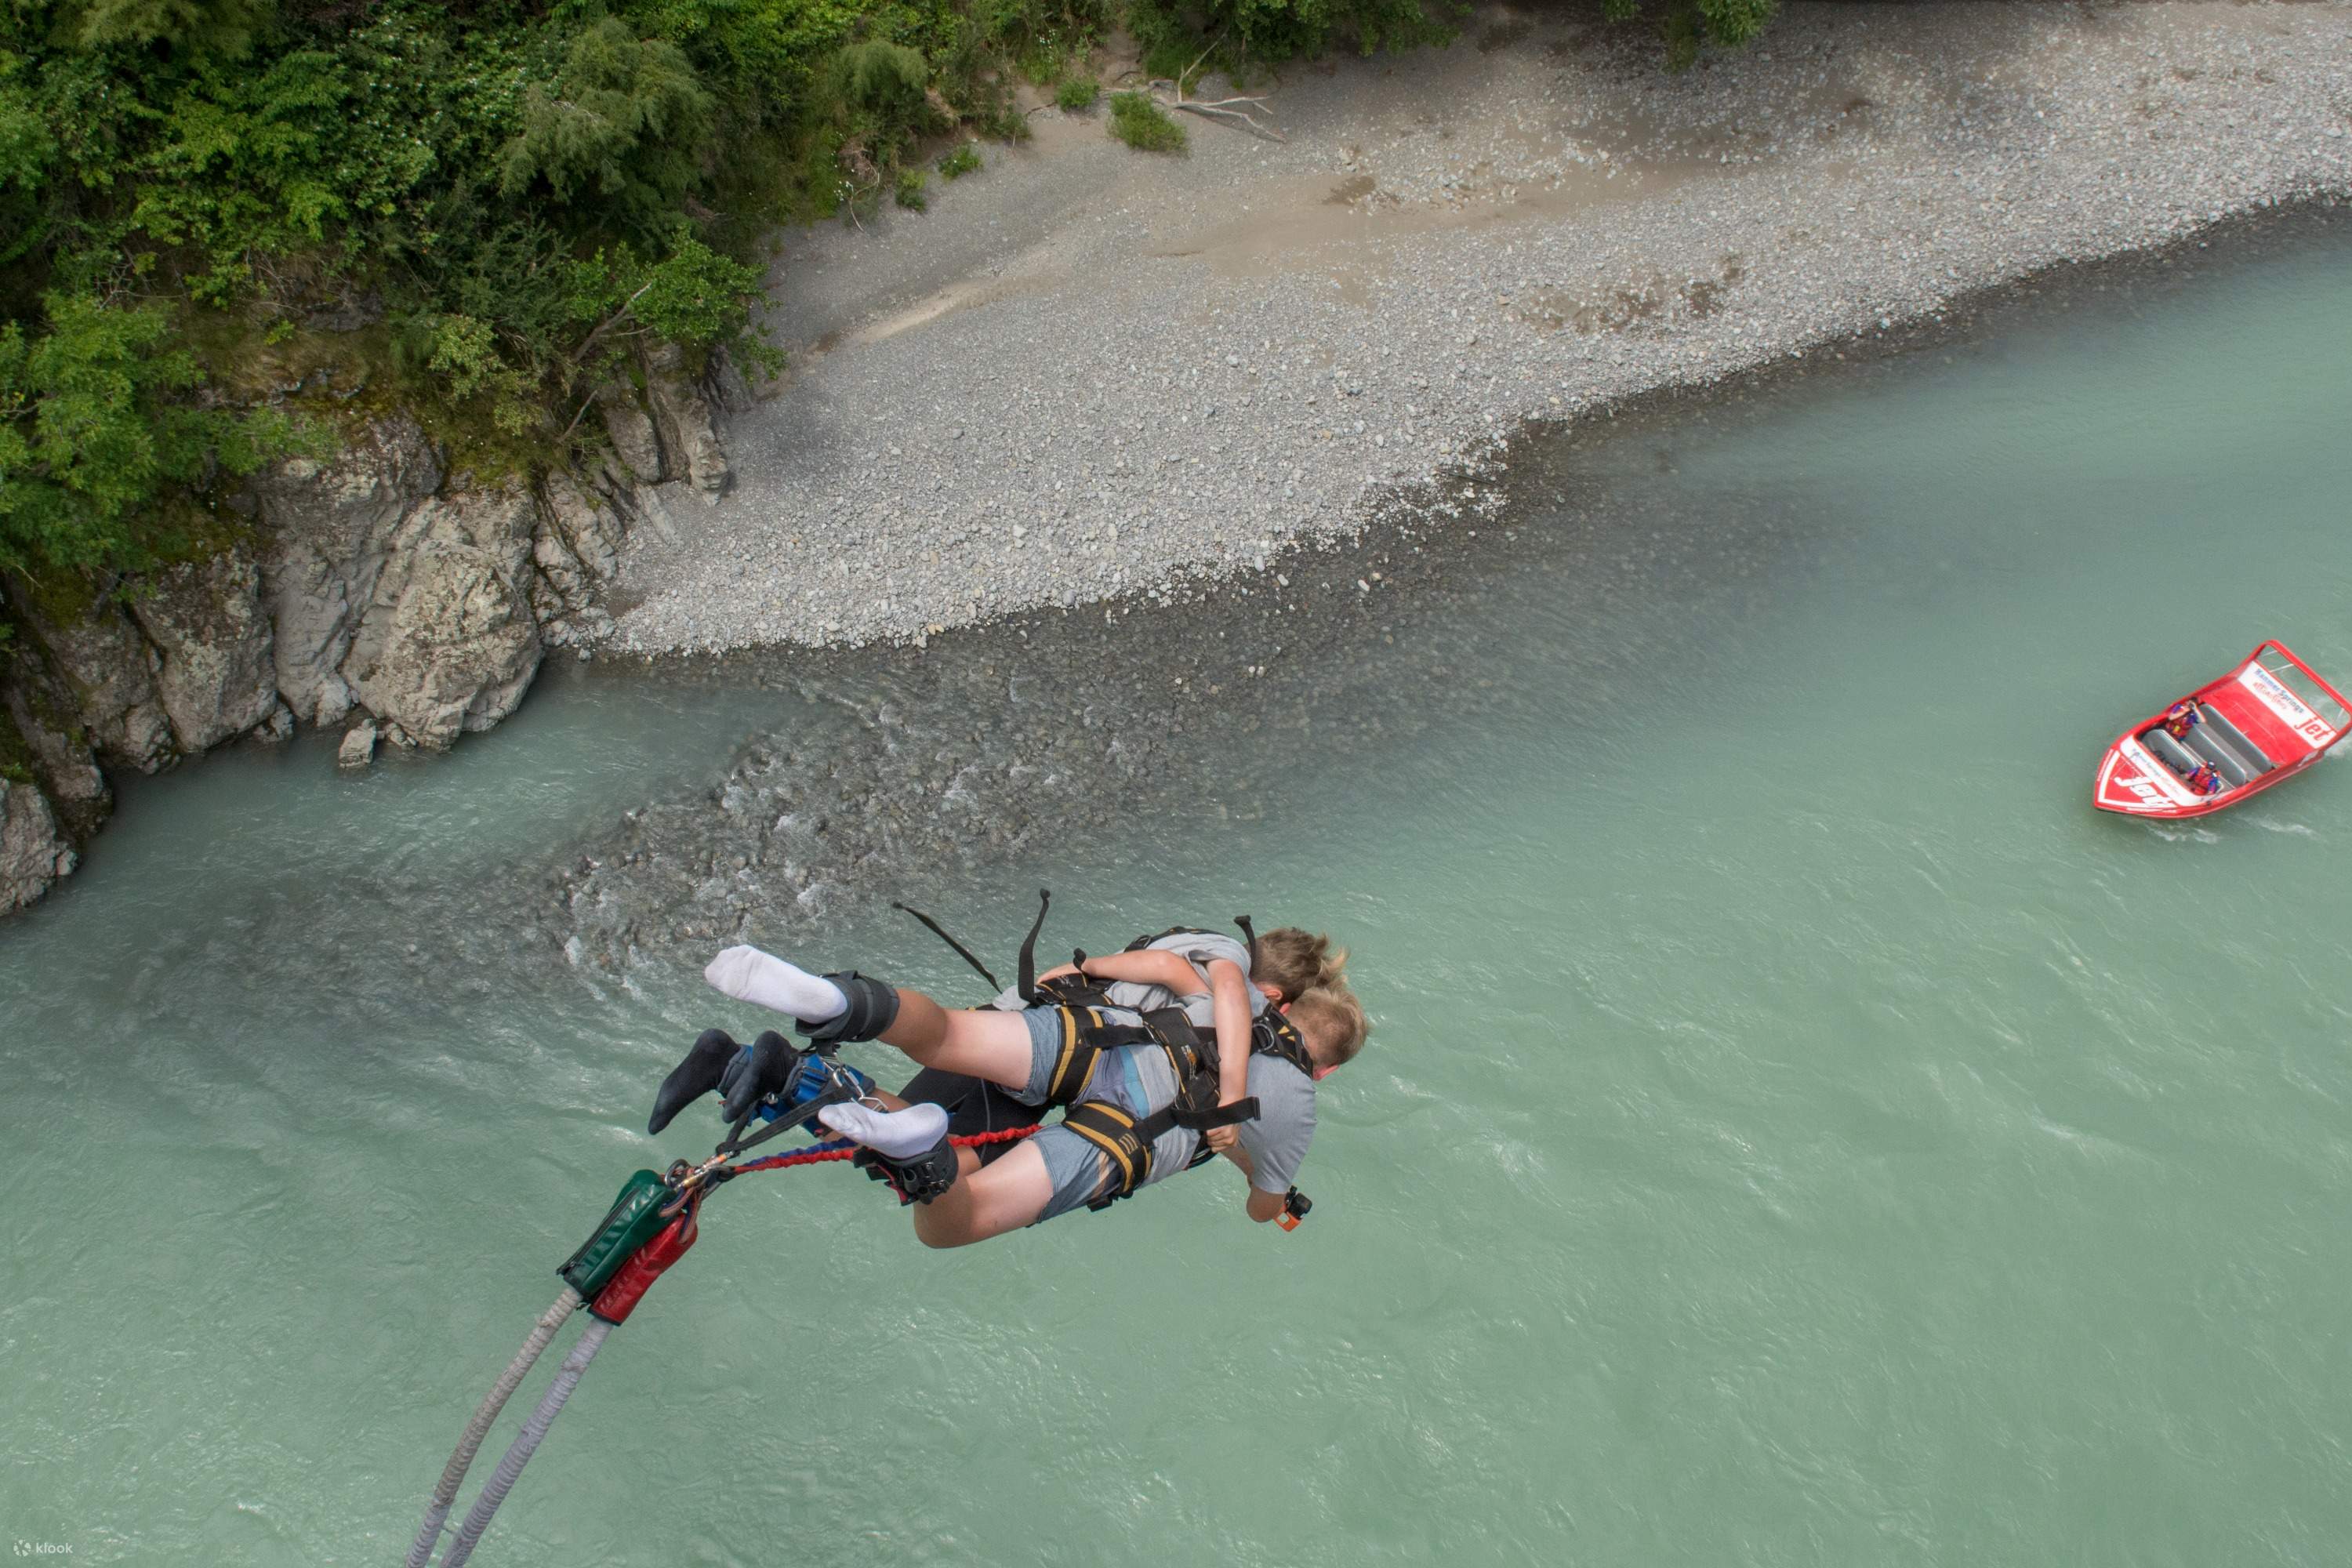
[[1526, 421], [1839, 353], [2352, 193], [2352, 5], [1792, 5], [1663, 75], [1583, 14], [1272, 85], [1145, 158], [1040, 110], [929, 214], [788, 235], [736, 489], [607, 646], [922, 639], [1439, 510]]

